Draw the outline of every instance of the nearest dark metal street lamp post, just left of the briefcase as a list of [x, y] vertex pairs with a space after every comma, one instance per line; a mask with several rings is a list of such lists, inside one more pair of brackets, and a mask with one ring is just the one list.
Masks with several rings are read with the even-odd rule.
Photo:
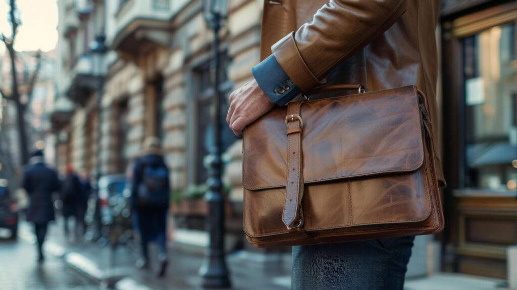
[[205, 250], [203, 265], [199, 274], [206, 288], [230, 287], [229, 271], [224, 258], [224, 198], [222, 195], [221, 181], [221, 110], [219, 91], [220, 82], [220, 57], [219, 57], [219, 29], [221, 22], [228, 15], [229, 0], [203, 0], [203, 16], [209, 28], [214, 30], [214, 58], [212, 69], [214, 81], [214, 100], [212, 101], [212, 126], [214, 126], [214, 145], [210, 148], [210, 169], [207, 180], [208, 191], [205, 193], [205, 201], [208, 203], [209, 216], [206, 226], [210, 235], [209, 246]]

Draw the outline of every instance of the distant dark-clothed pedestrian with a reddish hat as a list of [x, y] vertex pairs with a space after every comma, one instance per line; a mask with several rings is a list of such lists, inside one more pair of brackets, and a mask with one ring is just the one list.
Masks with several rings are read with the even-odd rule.
[[78, 212], [82, 195], [82, 187], [79, 176], [77, 176], [73, 171], [72, 165], [66, 165], [65, 174], [61, 190], [61, 201], [63, 202], [63, 232], [65, 237], [68, 238], [70, 218], [75, 220], [73, 232], [76, 236], [79, 235], [77, 228], [79, 224]]

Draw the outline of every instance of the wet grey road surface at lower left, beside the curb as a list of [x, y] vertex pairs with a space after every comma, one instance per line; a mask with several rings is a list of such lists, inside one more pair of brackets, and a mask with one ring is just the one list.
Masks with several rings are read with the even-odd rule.
[[36, 247], [19, 239], [0, 240], [0, 290], [92, 290], [92, 281], [67, 267], [62, 260], [47, 255], [36, 262]]

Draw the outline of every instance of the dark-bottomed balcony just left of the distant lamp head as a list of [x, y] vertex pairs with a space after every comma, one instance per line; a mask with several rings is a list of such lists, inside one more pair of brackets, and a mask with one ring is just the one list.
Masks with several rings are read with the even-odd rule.
[[67, 96], [71, 101], [84, 106], [99, 84], [93, 71], [92, 55], [81, 55], [71, 70], [71, 76]]

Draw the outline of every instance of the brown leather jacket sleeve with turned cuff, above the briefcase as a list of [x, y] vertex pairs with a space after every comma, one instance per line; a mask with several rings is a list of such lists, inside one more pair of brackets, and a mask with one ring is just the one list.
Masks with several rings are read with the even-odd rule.
[[[301, 91], [322, 84], [342, 60], [365, 47], [405, 12], [409, 0], [330, 0], [311, 22], [273, 44], [276, 60]], [[324, 52], [324, 53], [322, 53]]]

